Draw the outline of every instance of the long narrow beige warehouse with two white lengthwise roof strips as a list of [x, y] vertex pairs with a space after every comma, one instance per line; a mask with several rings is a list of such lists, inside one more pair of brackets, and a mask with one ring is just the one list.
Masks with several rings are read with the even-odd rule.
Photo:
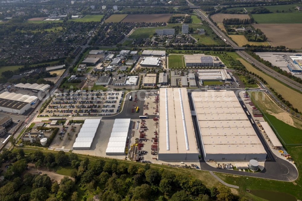
[[159, 89], [159, 160], [198, 160], [186, 88]]

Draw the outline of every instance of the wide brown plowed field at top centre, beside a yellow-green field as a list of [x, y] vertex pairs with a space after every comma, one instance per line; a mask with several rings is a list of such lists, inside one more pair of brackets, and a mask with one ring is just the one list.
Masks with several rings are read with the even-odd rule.
[[127, 15], [122, 22], [168, 22], [172, 14], [139, 14]]

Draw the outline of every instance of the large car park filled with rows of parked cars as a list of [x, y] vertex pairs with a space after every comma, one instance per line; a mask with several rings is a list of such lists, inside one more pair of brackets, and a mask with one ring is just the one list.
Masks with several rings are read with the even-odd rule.
[[39, 116], [111, 116], [119, 112], [123, 91], [58, 93]]

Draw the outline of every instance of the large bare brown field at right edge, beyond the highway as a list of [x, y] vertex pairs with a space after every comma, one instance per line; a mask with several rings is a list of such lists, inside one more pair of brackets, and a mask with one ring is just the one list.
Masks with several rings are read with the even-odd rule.
[[268, 38], [272, 46], [286, 46], [288, 48], [302, 48], [302, 24], [253, 24]]

